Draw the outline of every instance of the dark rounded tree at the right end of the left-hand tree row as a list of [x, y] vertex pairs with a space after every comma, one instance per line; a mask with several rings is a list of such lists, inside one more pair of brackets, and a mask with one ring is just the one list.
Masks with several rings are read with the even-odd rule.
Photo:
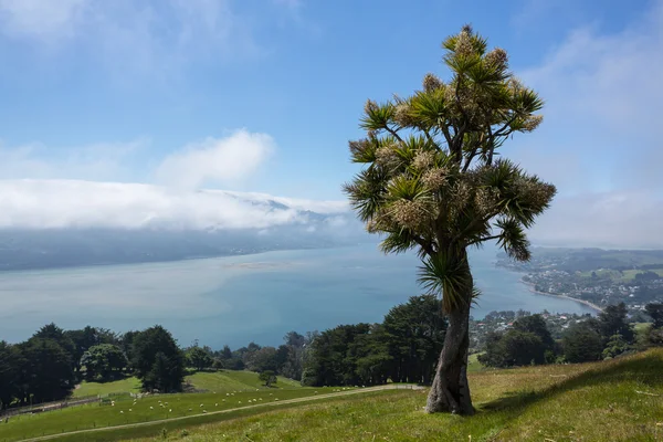
[[135, 335], [131, 355], [131, 366], [145, 390], [181, 390], [185, 355], [164, 327], [157, 325]]

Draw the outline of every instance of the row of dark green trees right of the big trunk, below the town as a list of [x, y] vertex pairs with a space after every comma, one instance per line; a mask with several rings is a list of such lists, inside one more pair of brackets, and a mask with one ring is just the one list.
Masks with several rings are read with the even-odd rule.
[[490, 367], [587, 362], [614, 358], [639, 345], [663, 345], [663, 304], [649, 304], [645, 312], [652, 326], [641, 343], [636, 343], [623, 303], [606, 307], [596, 318], [570, 325], [557, 341], [540, 315], [519, 317], [507, 332], [488, 334], [485, 352], [478, 360]]

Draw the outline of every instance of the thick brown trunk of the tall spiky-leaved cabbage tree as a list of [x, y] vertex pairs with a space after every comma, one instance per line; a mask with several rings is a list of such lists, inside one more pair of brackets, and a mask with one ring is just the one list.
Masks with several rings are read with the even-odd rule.
[[[472, 277], [470, 276], [472, 282]], [[429, 392], [425, 411], [474, 414], [467, 383], [467, 350], [470, 346], [470, 306], [472, 284], [463, 294], [466, 303], [448, 314], [449, 327], [440, 352], [435, 378]]]

